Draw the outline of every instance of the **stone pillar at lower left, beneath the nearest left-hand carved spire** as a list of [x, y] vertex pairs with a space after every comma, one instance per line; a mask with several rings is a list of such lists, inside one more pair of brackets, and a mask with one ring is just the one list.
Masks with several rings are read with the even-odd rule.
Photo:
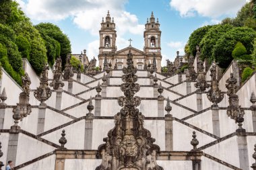
[[19, 131], [10, 132], [6, 161], [10, 161], [10, 160], [13, 161], [13, 165], [16, 165], [18, 140], [19, 140]]

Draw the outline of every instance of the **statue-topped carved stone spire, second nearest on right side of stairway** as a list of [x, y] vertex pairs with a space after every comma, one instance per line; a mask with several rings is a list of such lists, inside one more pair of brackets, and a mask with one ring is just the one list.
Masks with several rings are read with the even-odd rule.
[[210, 69], [210, 76], [212, 77], [211, 80], [211, 87], [210, 90], [207, 92], [207, 98], [213, 103], [213, 108], [218, 108], [218, 103], [222, 101], [224, 98], [224, 94], [219, 89], [219, 83], [216, 79], [216, 63], [214, 62], [212, 68]]

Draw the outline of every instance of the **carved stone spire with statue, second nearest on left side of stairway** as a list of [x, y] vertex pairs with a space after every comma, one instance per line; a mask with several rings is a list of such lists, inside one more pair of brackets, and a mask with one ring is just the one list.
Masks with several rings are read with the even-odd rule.
[[48, 87], [48, 70], [49, 66], [45, 64], [40, 77], [40, 86], [34, 91], [34, 97], [41, 102], [40, 105], [46, 105], [44, 101], [49, 99], [52, 95], [51, 89]]

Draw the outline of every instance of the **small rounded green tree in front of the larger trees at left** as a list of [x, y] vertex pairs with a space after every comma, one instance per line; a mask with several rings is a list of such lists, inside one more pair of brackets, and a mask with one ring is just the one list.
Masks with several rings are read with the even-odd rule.
[[19, 51], [22, 53], [22, 57], [28, 58], [28, 60], [29, 60], [31, 46], [30, 46], [30, 43], [28, 42], [27, 38], [25, 38], [22, 35], [19, 35], [19, 36], [17, 36], [15, 43], [17, 44]]

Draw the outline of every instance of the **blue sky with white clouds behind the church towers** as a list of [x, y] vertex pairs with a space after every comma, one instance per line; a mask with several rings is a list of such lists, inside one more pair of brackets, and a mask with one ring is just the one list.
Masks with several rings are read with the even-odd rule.
[[51, 22], [61, 28], [71, 41], [72, 54], [87, 50], [98, 58], [99, 30], [102, 17], [109, 10], [117, 29], [117, 50], [131, 45], [143, 50], [143, 31], [147, 17], [154, 11], [159, 19], [162, 64], [174, 60], [193, 30], [218, 24], [234, 17], [249, 0], [16, 0], [34, 25]]

